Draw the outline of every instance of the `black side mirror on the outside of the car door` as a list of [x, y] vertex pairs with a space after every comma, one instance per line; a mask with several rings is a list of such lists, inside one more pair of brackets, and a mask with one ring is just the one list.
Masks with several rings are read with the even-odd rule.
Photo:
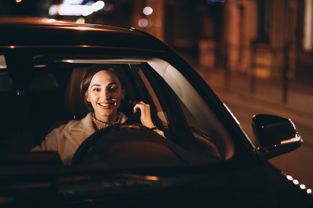
[[299, 148], [303, 142], [290, 119], [258, 114], [252, 117], [256, 148], [268, 160]]

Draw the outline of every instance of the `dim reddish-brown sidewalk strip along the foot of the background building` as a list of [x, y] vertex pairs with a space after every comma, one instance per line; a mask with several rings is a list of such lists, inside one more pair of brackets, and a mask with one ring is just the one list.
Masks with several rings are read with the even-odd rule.
[[287, 87], [283, 87], [280, 78], [255, 78], [251, 81], [246, 73], [223, 69], [196, 71], [213, 90], [236, 93], [246, 100], [258, 100], [278, 111], [287, 111], [313, 121], [313, 83], [290, 79]]

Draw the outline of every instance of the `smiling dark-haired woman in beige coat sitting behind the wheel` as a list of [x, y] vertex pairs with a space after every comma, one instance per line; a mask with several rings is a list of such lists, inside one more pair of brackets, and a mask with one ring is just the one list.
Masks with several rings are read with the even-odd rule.
[[[125, 96], [125, 88], [117, 66], [91, 66], [82, 77], [80, 94], [90, 113], [81, 120], [71, 120], [52, 130], [32, 151], [57, 151], [62, 163], [70, 165], [76, 149], [87, 137], [97, 130], [127, 120], [127, 116], [118, 110]], [[138, 110], [141, 111], [142, 125], [155, 129], [149, 105], [140, 101], [133, 107], [134, 113]], [[156, 132], [164, 137], [162, 131]]]

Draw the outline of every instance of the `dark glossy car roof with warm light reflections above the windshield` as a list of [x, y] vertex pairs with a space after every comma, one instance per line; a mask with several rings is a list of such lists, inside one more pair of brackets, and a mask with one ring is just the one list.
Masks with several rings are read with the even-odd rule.
[[114, 47], [164, 51], [165, 44], [137, 30], [35, 17], [0, 17], [0, 47]]

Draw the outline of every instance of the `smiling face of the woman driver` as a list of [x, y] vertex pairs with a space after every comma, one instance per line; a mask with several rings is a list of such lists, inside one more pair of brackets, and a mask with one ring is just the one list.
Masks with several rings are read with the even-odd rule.
[[104, 122], [115, 122], [120, 100], [125, 90], [118, 77], [109, 70], [101, 70], [93, 75], [85, 98], [91, 103], [96, 119]]

